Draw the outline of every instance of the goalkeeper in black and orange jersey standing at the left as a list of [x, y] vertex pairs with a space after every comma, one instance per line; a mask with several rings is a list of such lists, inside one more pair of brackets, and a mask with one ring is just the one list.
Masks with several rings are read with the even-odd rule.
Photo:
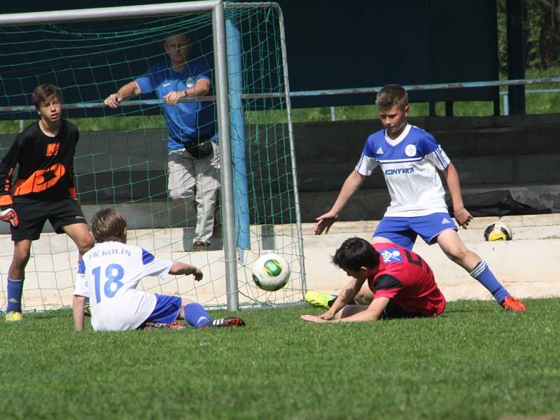
[[[41, 118], [16, 137], [0, 162], [0, 218], [10, 223], [14, 242], [6, 321], [22, 319], [25, 266], [31, 242], [41, 236], [45, 221], [76, 243], [80, 259], [93, 246], [73, 183], [78, 127], [62, 119], [58, 87], [39, 85], [32, 98]], [[16, 166], [18, 176], [12, 183]]]

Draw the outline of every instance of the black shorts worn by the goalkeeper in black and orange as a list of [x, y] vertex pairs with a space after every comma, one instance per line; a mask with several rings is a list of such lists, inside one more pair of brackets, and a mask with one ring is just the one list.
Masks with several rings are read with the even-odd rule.
[[13, 241], [39, 239], [47, 220], [57, 233], [64, 233], [64, 226], [87, 223], [80, 205], [71, 197], [48, 201], [14, 197], [13, 209], [20, 221], [15, 228], [10, 225]]

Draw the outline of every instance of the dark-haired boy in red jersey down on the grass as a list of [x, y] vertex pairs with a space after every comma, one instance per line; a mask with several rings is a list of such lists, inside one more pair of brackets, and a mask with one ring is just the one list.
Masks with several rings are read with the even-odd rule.
[[[310, 322], [377, 321], [379, 318], [414, 318], [440, 315], [445, 298], [433, 271], [420, 255], [397, 244], [370, 244], [346, 239], [332, 262], [352, 277], [321, 316], [302, 315]], [[367, 281], [371, 304], [352, 304]]]

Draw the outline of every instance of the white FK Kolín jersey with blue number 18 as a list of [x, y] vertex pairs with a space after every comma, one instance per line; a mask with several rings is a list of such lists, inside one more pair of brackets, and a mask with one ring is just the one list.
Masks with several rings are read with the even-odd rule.
[[79, 262], [74, 294], [90, 298], [94, 330], [134, 330], [156, 303], [152, 293], [136, 290], [139, 281], [145, 276], [163, 279], [171, 266], [139, 246], [103, 242]]

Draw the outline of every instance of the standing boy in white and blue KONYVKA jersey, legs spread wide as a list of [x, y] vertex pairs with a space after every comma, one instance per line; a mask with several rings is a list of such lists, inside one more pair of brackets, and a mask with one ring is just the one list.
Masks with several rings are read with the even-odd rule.
[[[427, 244], [440, 245], [442, 251], [492, 293], [510, 311], [525, 311], [521, 300], [512, 297], [476, 253], [465, 247], [451, 221], [444, 200], [444, 189], [437, 169], [447, 182], [453, 200], [454, 216], [463, 229], [472, 215], [465, 209], [457, 170], [433, 136], [409, 125], [408, 95], [400, 85], [386, 85], [375, 101], [385, 129], [371, 134], [365, 142], [360, 161], [344, 181], [330, 211], [316, 218], [315, 235], [328, 233], [350, 197], [359, 190], [365, 176], [375, 167], [383, 171], [391, 204], [373, 234], [372, 244], [393, 242], [412, 249], [420, 235]], [[311, 304], [321, 299], [310, 292]], [[332, 299], [332, 297], [330, 297]], [[324, 305], [321, 305], [324, 306]]]

